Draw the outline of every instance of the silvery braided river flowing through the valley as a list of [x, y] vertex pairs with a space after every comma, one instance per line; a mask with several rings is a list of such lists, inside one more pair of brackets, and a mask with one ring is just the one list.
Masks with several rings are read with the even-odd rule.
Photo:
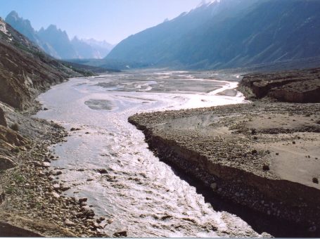
[[[212, 79], [215, 77], [218, 80]], [[259, 236], [247, 222], [216, 211], [202, 194], [155, 157], [127, 118], [136, 112], [244, 103], [238, 76], [206, 72], [130, 72], [70, 79], [39, 96], [37, 117], [70, 130], [53, 146], [66, 195], [87, 197], [105, 232], [130, 237]], [[228, 82], [227, 80], [231, 80]], [[233, 96], [221, 95], [229, 90]], [[219, 94], [220, 93], [220, 94]], [[99, 173], [105, 169], [105, 173]], [[213, 205], [215, 207], [215, 205]]]

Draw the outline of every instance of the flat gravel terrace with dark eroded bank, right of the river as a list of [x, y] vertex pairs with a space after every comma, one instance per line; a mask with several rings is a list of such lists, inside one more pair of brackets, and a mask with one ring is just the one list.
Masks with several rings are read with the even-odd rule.
[[233, 202], [318, 235], [319, 110], [257, 102], [129, 117], [162, 159]]

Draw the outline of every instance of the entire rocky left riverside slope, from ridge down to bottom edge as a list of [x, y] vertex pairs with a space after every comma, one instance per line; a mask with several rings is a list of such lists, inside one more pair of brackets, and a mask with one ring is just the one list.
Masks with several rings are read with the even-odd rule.
[[[44, 176], [47, 182], [41, 188], [52, 191], [53, 184], [46, 174], [39, 174], [39, 167], [35, 168], [34, 164], [44, 170], [49, 167], [49, 158], [53, 156], [47, 148], [60, 142], [65, 132], [53, 122], [19, 111], [33, 110], [34, 105], [38, 105], [34, 98], [39, 92], [79, 73], [47, 56], [1, 18], [0, 56], [0, 235], [75, 237], [63, 226], [57, 226], [52, 218], [39, 214], [32, 218], [36, 193], [30, 189], [39, 188]], [[30, 187], [32, 182], [34, 185]], [[41, 195], [38, 190], [37, 198], [42, 198]], [[56, 198], [60, 198], [57, 193]], [[46, 199], [47, 209], [39, 208], [40, 212], [48, 212], [51, 205], [59, 204], [49, 199]], [[46, 202], [37, 203], [45, 205]], [[75, 209], [80, 210], [77, 206]], [[64, 209], [66, 211], [71, 210]]]

